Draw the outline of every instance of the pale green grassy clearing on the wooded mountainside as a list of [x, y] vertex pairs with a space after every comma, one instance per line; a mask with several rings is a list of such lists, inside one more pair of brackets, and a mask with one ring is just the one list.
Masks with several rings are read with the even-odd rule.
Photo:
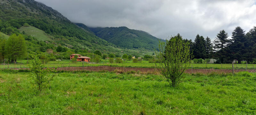
[[31, 35], [32, 37], [35, 37], [37, 40], [50, 40], [52, 36], [46, 34], [43, 30], [40, 30], [36, 27], [29, 26], [29, 27], [20, 27], [20, 32], [24, 31], [25, 34]]

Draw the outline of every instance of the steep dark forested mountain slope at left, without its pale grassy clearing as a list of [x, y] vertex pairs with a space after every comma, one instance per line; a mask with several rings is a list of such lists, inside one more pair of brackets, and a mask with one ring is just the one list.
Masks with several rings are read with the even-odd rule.
[[[21, 33], [27, 23], [44, 31], [52, 41], [71, 49], [115, 51], [114, 44], [76, 26], [58, 11], [34, 0], [0, 0], [0, 31], [4, 34]], [[19, 30], [20, 29], [20, 30]], [[37, 30], [36, 30], [37, 31]], [[26, 33], [26, 32], [25, 32]], [[26, 33], [30, 35], [29, 33]]]

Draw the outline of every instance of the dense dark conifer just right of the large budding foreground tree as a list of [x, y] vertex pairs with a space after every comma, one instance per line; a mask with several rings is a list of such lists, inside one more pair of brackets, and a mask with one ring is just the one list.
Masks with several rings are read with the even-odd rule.
[[205, 50], [205, 40], [203, 36], [196, 35], [196, 39], [193, 44], [193, 55], [194, 58], [205, 58], [206, 57], [206, 50]]

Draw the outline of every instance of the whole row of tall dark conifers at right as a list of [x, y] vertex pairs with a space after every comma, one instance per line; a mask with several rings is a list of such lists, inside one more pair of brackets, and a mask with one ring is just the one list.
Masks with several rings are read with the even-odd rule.
[[196, 35], [194, 42], [190, 42], [190, 52], [193, 51], [194, 58], [215, 58], [216, 63], [231, 63], [237, 60], [238, 63], [256, 61], [256, 27], [245, 34], [241, 27], [236, 27], [232, 32], [231, 39], [228, 33], [221, 30], [217, 37], [211, 42], [209, 37]]

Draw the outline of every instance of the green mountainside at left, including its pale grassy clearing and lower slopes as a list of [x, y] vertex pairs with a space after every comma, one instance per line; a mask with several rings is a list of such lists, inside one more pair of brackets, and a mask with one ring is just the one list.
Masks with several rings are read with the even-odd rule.
[[[148, 53], [143, 48], [130, 50], [116, 46], [96, 36], [87, 26], [76, 25], [58, 11], [34, 0], [0, 0], [0, 6], [0, 31], [7, 35], [21, 34], [24, 31], [23, 34], [28, 35], [25, 40], [30, 42], [28, 50], [32, 46], [40, 45], [40, 48], [35, 47], [33, 52], [38, 49], [43, 52], [47, 49], [56, 50], [60, 45], [75, 52], [85, 49], [89, 52], [100, 50], [102, 53], [120, 55]], [[30, 26], [24, 27], [25, 23]]]

